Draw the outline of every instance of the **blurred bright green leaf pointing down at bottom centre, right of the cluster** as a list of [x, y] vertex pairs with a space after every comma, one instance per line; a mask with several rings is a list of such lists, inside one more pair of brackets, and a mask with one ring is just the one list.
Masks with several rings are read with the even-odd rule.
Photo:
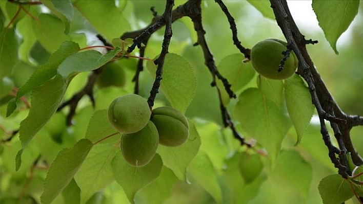
[[192, 176], [191, 183], [195, 180], [217, 203], [221, 202], [222, 192], [217, 182], [217, 172], [205, 152], [198, 152], [188, 167], [188, 173]]

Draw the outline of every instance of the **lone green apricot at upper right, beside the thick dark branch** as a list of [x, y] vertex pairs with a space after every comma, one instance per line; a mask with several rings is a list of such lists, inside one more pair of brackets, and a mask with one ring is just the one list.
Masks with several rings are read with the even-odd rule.
[[265, 39], [257, 42], [251, 49], [251, 61], [256, 72], [269, 79], [287, 79], [291, 77], [298, 65], [295, 53], [291, 51], [290, 56], [284, 63], [284, 69], [278, 72], [278, 65], [282, 54], [287, 50], [287, 42], [279, 39]]

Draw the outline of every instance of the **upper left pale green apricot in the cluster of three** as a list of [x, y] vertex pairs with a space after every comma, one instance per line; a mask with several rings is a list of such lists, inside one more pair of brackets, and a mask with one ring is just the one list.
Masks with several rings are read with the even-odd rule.
[[108, 121], [121, 133], [143, 129], [150, 120], [149, 104], [143, 97], [127, 94], [113, 100], [108, 108]]

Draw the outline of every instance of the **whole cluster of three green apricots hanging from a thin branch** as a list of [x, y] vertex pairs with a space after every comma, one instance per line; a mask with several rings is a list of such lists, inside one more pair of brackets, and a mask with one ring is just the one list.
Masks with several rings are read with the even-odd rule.
[[136, 94], [113, 100], [108, 120], [122, 134], [122, 155], [134, 167], [149, 164], [158, 144], [176, 147], [189, 137], [189, 124], [181, 112], [166, 106], [151, 111], [146, 99]]

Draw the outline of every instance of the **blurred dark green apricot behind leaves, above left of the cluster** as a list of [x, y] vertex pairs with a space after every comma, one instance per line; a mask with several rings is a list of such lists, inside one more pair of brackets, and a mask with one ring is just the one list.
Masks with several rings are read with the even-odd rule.
[[117, 86], [122, 87], [125, 85], [125, 71], [117, 63], [112, 62], [108, 64], [105, 69], [99, 73], [96, 83], [100, 88]]

